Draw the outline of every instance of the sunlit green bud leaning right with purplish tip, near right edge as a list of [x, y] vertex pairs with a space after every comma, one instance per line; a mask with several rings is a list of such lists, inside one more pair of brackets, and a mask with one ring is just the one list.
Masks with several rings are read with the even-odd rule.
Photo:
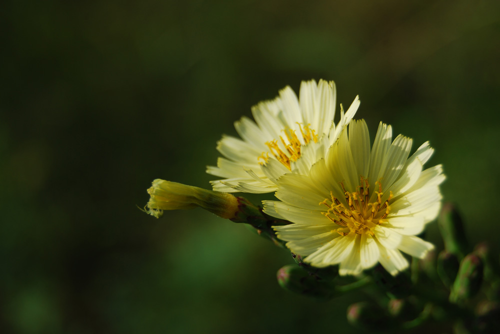
[[449, 301], [460, 304], [474, 297], [481, 288], [483, 264], [481, 258], [469, 254], [463, 258], [455, 282], [449, 295]]

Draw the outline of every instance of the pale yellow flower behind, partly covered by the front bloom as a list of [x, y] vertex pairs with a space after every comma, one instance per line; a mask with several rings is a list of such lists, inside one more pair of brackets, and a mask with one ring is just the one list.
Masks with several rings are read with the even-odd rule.
[[234, 123], [242, 139], [222, 136], [217, 143], [224, 157], [206, 172], [224, 179], [211, 181], [213, 190], [268, 193], [276, 190], [276, 179], [281, 175], [308, 169], [316, 161], [315, 150], [328, 147], [352, 119], [359, 99], [355, 98], [345, 115], [341, 109], [336, 126], [335, 103], [333, 81], [319, 80], [316, 85], [310, 80], [301, 82], [298, 99], [286, 86], [274, 100], [252, 107], [255, 122], [242, 117]]

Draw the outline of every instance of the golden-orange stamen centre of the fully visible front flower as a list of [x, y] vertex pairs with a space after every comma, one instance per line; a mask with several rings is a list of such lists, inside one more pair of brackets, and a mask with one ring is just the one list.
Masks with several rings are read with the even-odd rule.
[[[370, 191], [368, 180], [361, 176], [360, 185], [357, 186], [357, 191], [348, 192], [340, 183], [345, 195], [345, 203], [340, 202], [330, 192], [331, 199], [325, 199], [321, 204], [326, 205], [328, 210], [322, 212], [326, 218], [340, 227], [336, 232], [346, 236], [351, 232], [355, 234], [370, 234], [373, 235], [373, 229], [385, 222], [385, 217], [389, 214], [389, 201], [392, 199], [392, 192], [389, 192], [388, 199], [382, 204], [382, 184], [380, 181], [375, 182], [375, 187], [378, 185], [378, 191], [375, 191], [376, 199], [369, 202]], [[331, 202], [331, 204], [329, 203]]]

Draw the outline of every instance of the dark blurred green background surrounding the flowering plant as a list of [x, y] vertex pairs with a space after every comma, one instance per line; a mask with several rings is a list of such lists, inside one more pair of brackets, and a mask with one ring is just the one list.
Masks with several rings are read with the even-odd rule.
[[1, 7], [2, 333], [356, 333], [364, 295], [281, 290], [289, 253], [244, 226], [136, 207], [155, 178], [209, 188], [220, 135], [311, 78], [359, 94], [372, 138], [382, 120], [430, 140], [445, 199], [498, 254], [500, 1]]

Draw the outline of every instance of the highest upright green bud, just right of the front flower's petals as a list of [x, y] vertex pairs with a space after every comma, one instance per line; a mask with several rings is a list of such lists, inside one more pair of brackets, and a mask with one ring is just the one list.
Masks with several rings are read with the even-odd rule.
[[468, 253], [469, 247], [462, 219], [453, 204], [443, 205], [438, 218], [438, 226], [444, 241], [444, 249], [462, 259]]

